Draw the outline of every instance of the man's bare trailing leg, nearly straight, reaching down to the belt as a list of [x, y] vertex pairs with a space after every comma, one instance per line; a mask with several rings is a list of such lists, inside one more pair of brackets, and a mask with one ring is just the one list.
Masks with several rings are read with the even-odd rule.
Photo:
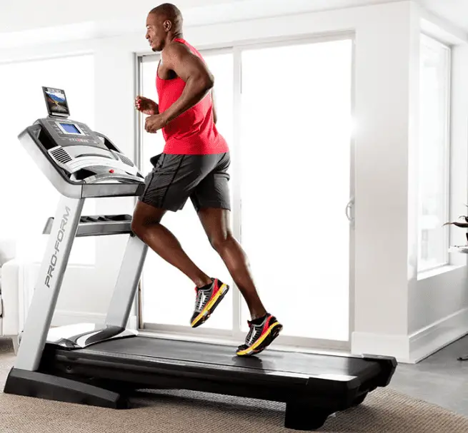
[[229, 226], [229, 210], [201, 208], [198, 215], [211, 245], [224, 261], [232, 279], [247, 302], [252, 320], [263, 317], [267, 314], [267, 310], [254, 285], [249, 269], [249, 259], [232, 235]]

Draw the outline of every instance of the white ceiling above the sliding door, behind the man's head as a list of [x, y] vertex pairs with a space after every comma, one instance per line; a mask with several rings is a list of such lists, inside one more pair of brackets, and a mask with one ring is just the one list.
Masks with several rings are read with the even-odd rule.
[[[173, 3], [184, 12], [185, 23], [194, 26], [391, 1], [400, 0], [177, 0]], [[64, 30], [77, 24], [86, 24], [87, 29], [101, 35], [114, 26], [128, 33], [144, 27], [146, 14], [160, 3], [163, 1], [139, 0], [129, 6], [126, 0], [81, 0], [71, 13], [61, 0], [43, 0], [39, 7], [35, 0], [4, 1], [0, 3], [0, 34], [14, 32], [15, 36], [21, 36], [19, 32], [24, 30], [34, 34], [39, 29], [47, 32], [60, 26]]]

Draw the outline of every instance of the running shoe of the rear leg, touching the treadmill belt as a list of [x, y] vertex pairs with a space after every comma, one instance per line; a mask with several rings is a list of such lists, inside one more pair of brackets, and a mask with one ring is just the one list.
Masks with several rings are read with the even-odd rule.
[[283, 325], [278, 322], [277, 318], [269, 313], [260, 323], [257, 323], [257, 321], [260, 320], [247, 321], [250, 330], [245, 339], [245, 344], [237, 348], [236, 354], [238, 356], [257, 355], [257, 353], [264, 351], [283, 329]]

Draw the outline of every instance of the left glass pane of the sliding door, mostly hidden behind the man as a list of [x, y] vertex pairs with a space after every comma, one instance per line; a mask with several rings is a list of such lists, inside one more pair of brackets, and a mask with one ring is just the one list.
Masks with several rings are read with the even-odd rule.
[[[215, 77], [215, 101], [220, 133], [232, 146], [232, 106], [233, 106], [233, 56], [228, 54], [203, 54], [211, 73]], [[157, 102], [156, 69], [158, 61], [141, 63], [141, 94]], [[146, 116], [141, 116], [141, 127]], [[161, 153], [164, 138], [161, 132], [149, 134], [142, 130], [142, 163], [144, 173], [151, 170], [149, 158]], [[216, 252], [211, 248], [201, 223], [196, 216], [191, 201], [183, 210], [166, 213], [162, 223], [179, 239], [182, 248], [196, 265], [211, 277], [218, 277], [232, 285], [229, 272]], [[143, 276], [142, 314], [145, 323], [162, 325], [190, 325], [195, 305], [195, 292], [192, 282], [179, 270], [159, 258], [149, 250], [146, 256]], [[168, 295], [174, 302], [168, 305]], [[230, 329], [232, 326], [231, 292], [217, 307], [216, 314], [204, 325], [206, 328]]]

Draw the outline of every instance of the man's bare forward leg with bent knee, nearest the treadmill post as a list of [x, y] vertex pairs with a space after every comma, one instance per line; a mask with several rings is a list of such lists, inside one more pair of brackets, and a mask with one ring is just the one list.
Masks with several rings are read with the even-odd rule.
[[211, 278], [191, 261], [179, 240], [161, 225], [161, 218], [165, 213], [164, 209], [154, 208], [139, 201], [134, 210], [131, 230], [166, 262], [184, 272], [196, 287], [211, 284]]

